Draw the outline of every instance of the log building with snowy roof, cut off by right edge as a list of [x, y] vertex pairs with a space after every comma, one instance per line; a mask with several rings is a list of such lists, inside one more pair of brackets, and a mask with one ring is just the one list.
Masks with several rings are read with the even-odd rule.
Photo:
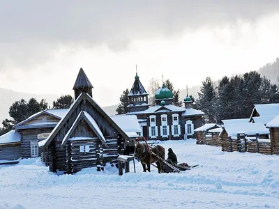
[[271, 138], [271, 153], [279, 155], [279, 115], [266, 124], [269, 127]]

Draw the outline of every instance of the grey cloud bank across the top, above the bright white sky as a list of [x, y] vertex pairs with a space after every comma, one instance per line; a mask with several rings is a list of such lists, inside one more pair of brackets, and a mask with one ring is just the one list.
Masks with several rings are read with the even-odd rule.
[[7, 63], [47, 61], [58, 46], [173, 36], [200, 26], [254, 22], [279, 10], [278, 0], [0, 1], [0, 71]]

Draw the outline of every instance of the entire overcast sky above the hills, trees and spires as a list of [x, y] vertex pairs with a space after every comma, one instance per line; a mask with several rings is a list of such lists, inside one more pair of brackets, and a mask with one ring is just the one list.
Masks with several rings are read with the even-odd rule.
[[14, 91], [73, 94], [82, 67], [107, 106], [136, 64], [146, 89], [162, 74], [186, 88], [279, 56], [278, 0], [0, 3], [0, 87]]

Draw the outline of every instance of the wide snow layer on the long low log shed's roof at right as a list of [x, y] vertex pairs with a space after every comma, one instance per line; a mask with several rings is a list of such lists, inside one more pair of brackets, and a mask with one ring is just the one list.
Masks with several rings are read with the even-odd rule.
[[269, 130], [263, 123], [239, 123], [223, 125], [223, 127], [229, 137], [235, 137], [237, 134], [269, 134]]

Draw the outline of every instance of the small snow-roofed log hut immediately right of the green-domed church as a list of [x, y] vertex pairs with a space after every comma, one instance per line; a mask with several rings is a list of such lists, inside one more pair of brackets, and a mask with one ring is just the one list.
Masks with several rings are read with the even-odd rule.
[[[209, 142], [209, 145], [212, 145], [211, 134], [209, 134], [209, 130], [216, 129], [217, 127], [221, 127], [216, 123], [206, 123], [201, 127], [198, 127], [194, 130], [196, 136], [196, 144], [206, 144], [206, 141]], [[208, 140], [206, 140], [208, 138]]]

